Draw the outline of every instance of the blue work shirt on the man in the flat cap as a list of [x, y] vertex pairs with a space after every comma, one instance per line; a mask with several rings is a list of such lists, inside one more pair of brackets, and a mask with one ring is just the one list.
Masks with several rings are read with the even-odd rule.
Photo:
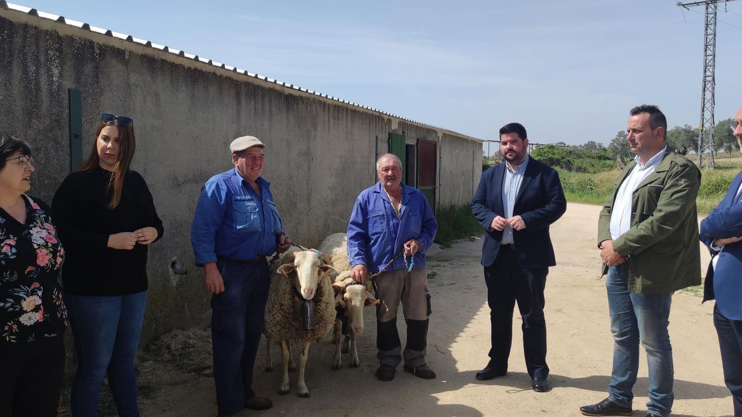
[[269, 190], [269, 182], [257, 178], [260, 196], [236, 168], [206, 181], [191, 226], [196, 265], [217, 258], [251, 261], [275, 252], [283, 223]]

